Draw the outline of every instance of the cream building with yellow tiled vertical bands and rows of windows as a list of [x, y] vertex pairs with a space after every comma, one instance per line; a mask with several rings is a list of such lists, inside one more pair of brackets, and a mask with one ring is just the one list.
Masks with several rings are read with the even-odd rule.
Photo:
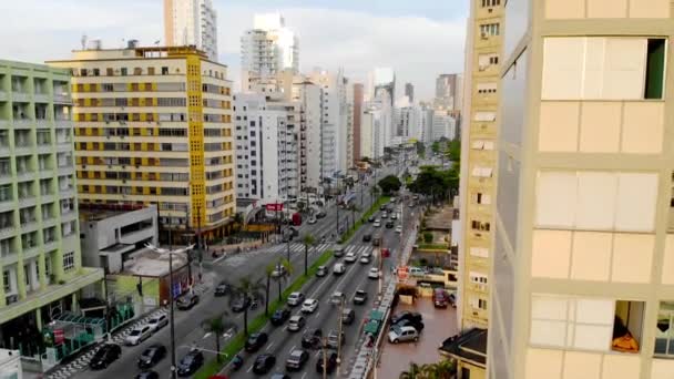
[[225, 65], [194, 48], [133, 44], [49, 64], [73, 74], [81, 203], [156, 203], [176, 235], [227, 234], [236, 199]]

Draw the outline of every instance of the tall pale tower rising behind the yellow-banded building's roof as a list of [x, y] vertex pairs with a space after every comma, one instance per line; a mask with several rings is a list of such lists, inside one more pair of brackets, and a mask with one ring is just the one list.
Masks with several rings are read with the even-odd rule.
[[164, 0], [164, 40], [170, 47], [195, 45], [217, 62], [217, 12], [211, 0]]

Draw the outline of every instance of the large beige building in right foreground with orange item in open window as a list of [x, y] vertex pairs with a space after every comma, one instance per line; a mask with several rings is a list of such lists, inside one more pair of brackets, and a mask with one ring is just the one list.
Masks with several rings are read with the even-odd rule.
[[489, 377], [673, 378], [673, 3], [503, 3]]

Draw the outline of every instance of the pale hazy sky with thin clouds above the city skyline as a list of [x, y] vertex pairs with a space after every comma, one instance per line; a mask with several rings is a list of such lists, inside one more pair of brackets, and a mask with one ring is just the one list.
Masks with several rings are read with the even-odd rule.
[[[415, 84], [430, 99], [435, 78], [463, 69], [466, 0], [213, 0], [218, 49], [229, 76], [239, 78], [241, 35], [256, 12], [282, 12], [299, 34], [303, 71], [344, 68], [362, 81], [374, 66], [392, 66], [399, 94]], [[82, 34], [119, 48], [163, 40], [162, 0], [0, 1], [0, 59], [43, 62], [70, 57]], [[11, 17], [8, 17], [10, 16]], [[238, 85], [235, 88], [238, 90]]]

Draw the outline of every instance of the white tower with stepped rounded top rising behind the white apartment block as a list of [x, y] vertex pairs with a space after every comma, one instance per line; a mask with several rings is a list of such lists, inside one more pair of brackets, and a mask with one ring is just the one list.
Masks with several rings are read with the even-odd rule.
[[253, 29], [241, 38], [242, 88], [251, 79], [276, 75], [285, 70], [299, 73], [299, 39], [280, 13], [255, 14]]

